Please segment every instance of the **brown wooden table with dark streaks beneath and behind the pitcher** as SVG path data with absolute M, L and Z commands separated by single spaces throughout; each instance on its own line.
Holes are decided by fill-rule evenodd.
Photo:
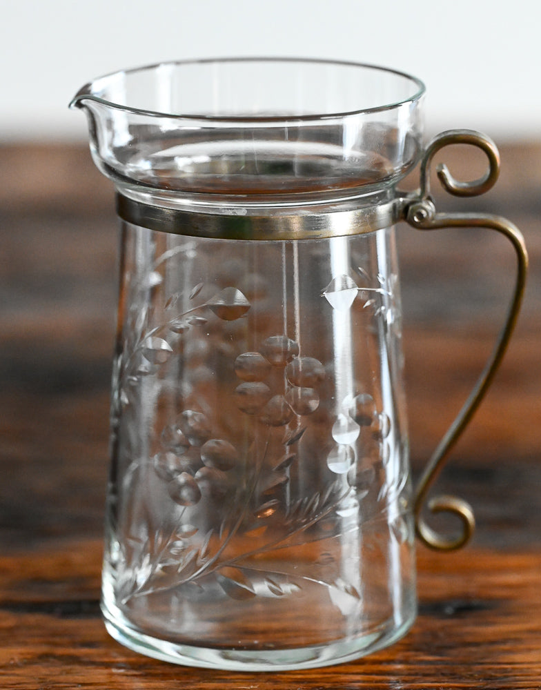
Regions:
M 419 547 L 420 614 L 391 649 L 315 671 L 243 674 L 144 658 L 106 634 L 112 188 L 84 148 L 0 147 L 0 687 L 541 688 L 541 146 L 504 147 L 502 167 L 495 190 L 460 207 L 522 228 L 527 298 L 504 366 L 438 485 L 475 507 L 473 542 L 447 555 Z M 503 239 L 478 230 L 404 226 L 399 243 L 418 473 L 491 350 L 514 262 Z

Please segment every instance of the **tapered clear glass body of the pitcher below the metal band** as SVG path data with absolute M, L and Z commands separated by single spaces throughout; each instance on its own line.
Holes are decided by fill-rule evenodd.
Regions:
M 415 575 L 392 230 L 123 236 L 108 620 L 217 666 L 393 639 Z

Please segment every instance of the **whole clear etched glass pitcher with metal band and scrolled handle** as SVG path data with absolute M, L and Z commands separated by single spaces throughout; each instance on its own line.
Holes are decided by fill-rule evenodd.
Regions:
M 121 218 L 102 608 L 110 633 L 174 662 L 308 668 L 397 640 L 416 612 L 415 532 L 446 451 L 509 339 L 520 233 L 435 213 L 418 79 L 349 63 L 231 59 L 118 72 L 83 87 Z M 397 183 L 418 161 L 422 188 Z M 394 226 L 483 225 L 518 281 L 491 361 L 413 491 Z

